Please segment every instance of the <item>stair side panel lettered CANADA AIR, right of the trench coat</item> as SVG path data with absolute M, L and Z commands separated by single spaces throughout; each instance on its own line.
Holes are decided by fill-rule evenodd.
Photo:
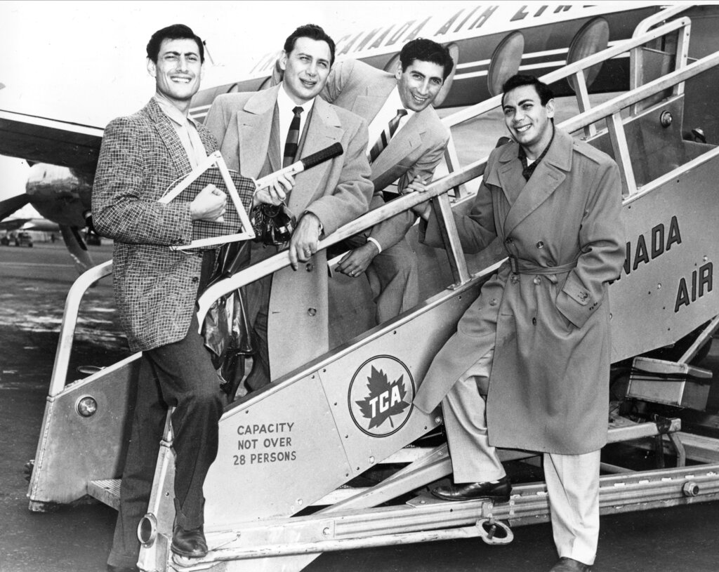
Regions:
M 610 286 L 612 361 L 674 343 L 719 314 L 719 161 L 625 203 L 626 262 Z

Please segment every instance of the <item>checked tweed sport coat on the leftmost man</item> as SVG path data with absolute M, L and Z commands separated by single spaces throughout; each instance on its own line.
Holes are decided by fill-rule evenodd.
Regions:
M 198 125 L 198 134 L 206 152 L 214 152 L 207 129 Z M 105 129 L 93 223 L 99 234 L 114 239 L 115 300 L 132 351 L 179 341 L 195 311 L 202 254 L 168 248 L 192 239 L 189 203 L 157 202 L 191 170 L 185 147 L 154 99 Z M 247 207 L 247 196 L 242 200 Z

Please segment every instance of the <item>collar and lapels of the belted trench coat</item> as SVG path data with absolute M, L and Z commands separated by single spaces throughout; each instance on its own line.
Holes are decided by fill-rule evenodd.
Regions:
M 508 146 L 516 149 L 516 146 Z M 503 153 L 500 161 L 506 157 Z M 509 160 L 500 167 L 499 177 L 503 183 L 517 184 L 517 177 L 523 185 L 521 192 L 510 207 L 507 218 L 504 222 L 504 234 L 510 234 L 516 226 L 527 218 L 533 211 L 538 208 L 541 203 L 551 196 L 555 190 L 562 184 L 567 177 L 567 172 L 572 167 L 572 137 L 564 132 L 557 130 L 554 135 L 554 141 L 549 147 L 544 159 L 537 165 L 536 170 L 529 180 L 524 183 L 522 176 L 521 161 L 518 160 L 516 154 L 513 160 Z M 505 194 L 506 194 L 505 190 Z

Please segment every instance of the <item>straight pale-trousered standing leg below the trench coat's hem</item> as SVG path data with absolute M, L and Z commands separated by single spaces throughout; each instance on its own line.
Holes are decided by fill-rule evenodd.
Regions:
M 544 453 L 551 529 L 560 558 L 592 565 L 599 541 L 600 451 Z

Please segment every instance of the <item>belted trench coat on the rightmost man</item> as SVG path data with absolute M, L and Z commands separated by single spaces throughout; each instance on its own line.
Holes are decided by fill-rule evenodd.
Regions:
M 607 436 L 607 286 L 624 259 L 618 168 L 557 130 L 528 182 L 521 171 L 516 143 L 495 149 L 469 215 L 455 215 L 466 252 L 499 236 L 510 261 L 459 320 L 414 403 L 433 410 L 494 347 L 490 444 L 587 453 Z M 441 246 L 434 217 L 421 231 L 426 244 Z

